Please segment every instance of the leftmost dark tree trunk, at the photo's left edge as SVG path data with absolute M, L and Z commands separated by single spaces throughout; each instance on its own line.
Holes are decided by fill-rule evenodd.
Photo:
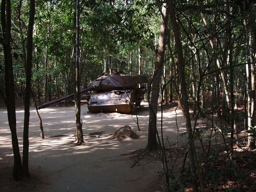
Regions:
M 6 15 L 5 15 L 6 12 Z M 4 49 L 4 67 L 5 67 L 5 94 L 9 127 L 11 130 L 12 150 L 14 154 L 14 167 L 12 175 L 15 180 L 19 180 L 22 172 L 22 164 L 19 152 L 19 143 L 16 133 L 16 112 L 15 112 L 15 94 L 14 94 L 14 76 L 12 68 L 11 54 L 11 1 L 1 1 L 1 26 L 3 30 L 2 45 Z

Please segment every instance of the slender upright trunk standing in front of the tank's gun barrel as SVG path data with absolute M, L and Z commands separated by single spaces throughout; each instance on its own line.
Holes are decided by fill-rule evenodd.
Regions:
M 75 90 L 75 108 L 76 108 L 76 138 L 77 143 L 83 143 L 83 130 L 80 118 L 80 64 L 79 64 L 79 0 L 76 0 L 76 90 Z

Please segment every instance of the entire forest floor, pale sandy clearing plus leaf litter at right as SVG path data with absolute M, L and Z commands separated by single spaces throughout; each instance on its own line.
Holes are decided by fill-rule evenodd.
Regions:
M 163 136 L 169 169 L 172 169 L 170 182 L 173 187 L 176 187 L 174 191 L 188 192 L 191 191 L 188 159 L 183 175 L 180 174 L 185 154 L 185 121 L 181 110 L 175 111 L 174 106 L 167 105 L 163 110 Z M 74 107 L 52 107 L 39 110 L 44 125 L 45 139 L 39 136 L 38 118 L 35 110 L 31 108 L 29 131 L 31 178 L 22 178 L 16 182 L 11 173 L 13 155 L 7 110 L 0 109 L 0 191 L 166 191 L 161 153 L 148 153 L 143 156 L 148 134 L 149 108 L 147 103 L 142 103 L 138 110 L 141 131 L 138 131 L 137 124 L 133 120 L 133 118 L 136 120 L 136 116 L 132 118 L 129 114 L 119 113 L 88 114 L 87 111 L 87 106 L 82 105 L 84 139 L 90 143 L 74 147 L 76 131 Z M 159 111 L 158 125 L 161 125 L 160 114 Z M 16 117 L 22 155 L 24 110 L 17 109 Z M 203 130 L 206 123 L 207 120 L 201 118 L 197 121 L 197 127 Z M 120 142 L 110 138 L 118 128 L 124 125 L 129 125 L 139 135 L 139 139 Z M 158 130 L 160 134 L 159 127 Z M 215 139 L 212 139 L 211 147 L 207 147 L 208 130 L 211 129 L 202 133 L 204 148 L 196 140 L 198 161 L 202 168 L 206 191 L 236 191 L 236 186 L 240 188 L 240 191 L 254 191 L 256 150 L 248 150 L 245 147 L 245 139 L 240 140 L 242 146 L 235 146 L 234 154 L 232 154 L 235 163 L 235 172 L 233 172 L 230 169 L 220 134 L 216 136 L 218 138 L 217 151 Z M 245 133 L 241 133 L 240 137 L 244 135 Z M 229 143 L 228 134 L 226 141 Z M 142 156 L 143 158 L 140 159 Z M 137 161 L 138 159 L 140 160 Z M 237 185 L 235 180 L 237 180 Z

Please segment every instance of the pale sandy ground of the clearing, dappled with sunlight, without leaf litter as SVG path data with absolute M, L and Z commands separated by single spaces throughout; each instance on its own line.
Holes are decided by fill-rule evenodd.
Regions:
M 0 191 L 86 191 L 86 192 L 147 192 L 161 189 L 159 173 L 161 162 L 144 159 L 130 168 L 132 151 L 147 145 L 148 112 L 147 103 L 142 103 L 138 111 L 138 131 L 131 115 L 119 113 L 87 114 L 87 106 L 81 107 L 84 139 L 91 145 L 73 147 L 75 133 L 74 107 L 46 108 L 41 114 L 45 139 L 40 139 L 38 118 L 35 110 L 30 113 L 29 166 L 31 179 L 15 182 L 11 171 L 12 146 L 8 127 L 7 111 L 0 110 Z M 185 131 L 184 118 L 177 111 L 180 133 Z M 22 152 L 24 111 L 17 110 L 17 134 Z M 136 116 L 135 116 L 136 119 Z M 160 126 L 160 112 L 158 113 Z M 163 135 L 170 143 L 176 141 L 176 118 L 174 110 L 163 113 Z M 129 125 L 140 137 L 137 140 L 118 142 L 109 135 L 88 137 L 89 133 L 104 131 L 113 134 L 118 128 Z M 61 137 L 52 137 L 63 135 Z M 179 138 L 180 140 L 180 138 Z M 183 141 L 184 142 L 184 141 Z M 181 144 L 181 140 L 179 142 Z M 22 155 L 22 154 L 21 154 Z

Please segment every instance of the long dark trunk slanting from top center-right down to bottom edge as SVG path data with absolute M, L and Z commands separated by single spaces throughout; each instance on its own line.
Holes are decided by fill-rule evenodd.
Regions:
M 194 160 L 194 142 L 192 138 L 192 127 L 191 127 L 191 120 L 189 114 L 189 107 L 188 107 L 188 94 L 187 94 L 187 86 L 186 86 L 186 79 L 185 79 L 185 64 L 184 64 L 184 57 L 182 52 L 182 45 L 180 39 L 180 30 L 178 28 L 178 24 L 176 21 L 176 11 L 173 7 L 172 0 L 167 0 L 168 9 L 170 18 L 172 20 L 172 28 L 175 40 L 175 46 L 177 48 L 178 54 L 178 70 L 179 70 L 179 80 L 181 85 L 181 105 L 183 106 L 183 115 L 185 117 L 186 129 L 187 129 L 187 147 L 188 147 L 188 157 L 189 157 L 189 166 L 191 171 L 191 179 L 192 179 L 192 186 L 193 191 L 198 191 L 197 179 L 196 179 L 196 166 Z

